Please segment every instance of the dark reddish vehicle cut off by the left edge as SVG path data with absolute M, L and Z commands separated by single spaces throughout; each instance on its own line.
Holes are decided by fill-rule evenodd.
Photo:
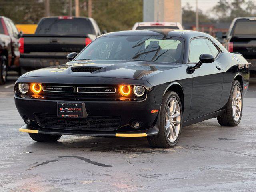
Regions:
M 19 71 L 19 33 L 14 22 L 0 16 L 0 84 L 4 84 L 7 71 Z

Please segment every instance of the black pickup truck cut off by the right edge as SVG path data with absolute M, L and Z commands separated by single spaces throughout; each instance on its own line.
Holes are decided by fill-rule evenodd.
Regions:
M 223 38 L 228 51 L 242 54 L 256 72 L 256 17 L 235 18 Z

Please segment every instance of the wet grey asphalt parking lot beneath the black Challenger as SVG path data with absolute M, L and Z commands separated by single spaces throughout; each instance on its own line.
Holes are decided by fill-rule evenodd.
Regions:
M 183 128 L 178 145 L 154 149 L 146 138 L 62 136 L 37 143 L 18 131 L 10 76 L 0 86 L 0 191 L 256 191 L 256 78 L 242 121 L 216 118 Z

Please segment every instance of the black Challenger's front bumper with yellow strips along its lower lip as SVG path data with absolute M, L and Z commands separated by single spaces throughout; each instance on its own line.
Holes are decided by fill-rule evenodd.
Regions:
M 49 127 L 42 125 L 38 119 L 38 114 L 54 116 L 57 118 L 57 102 L 70 102 L 70 101 L 57 101 L 57 100 L 40 100 L 30 98 L 18 98 L 15 96 L 15 104 L 20 113 L 20 116 L 25 120 L 29 118 L 32 120 L 30 125 L 24 125 L 21 130 L 38 130 L 38 133 L 48 134 L 70 134 L 70 135 L 83 135 L 83 136 L 129 136 L 127 134 L 138 134 L 133 136 L 148 136 L 158 133 L 158 113 L 151 113 L 152 110 L 160 110 L 160 105 L 150 102 L 152 97 L 147 97 L 143 101 L 136 102 L 86 102 L 86 112 L 88 117 L 119 117 L 120 124 L 115 130 L 88 130 L 82 128 L 70 127 Z M 74 123 L 77 119 L 69 119 Z M 134 129 L 131 126 L 132 121 L 139 121 L 141 127 Z M 69 123 L 70 123 L 69 121 Z M 122 133 L 126 134 L 123 135 Z M 116 135 L 117 134 L 117 135 Z M 132 136 L 132 135 L 130 135 Z

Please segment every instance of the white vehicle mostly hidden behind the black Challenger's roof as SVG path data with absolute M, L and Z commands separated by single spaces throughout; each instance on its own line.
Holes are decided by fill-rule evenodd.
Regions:
M 137 22 L 132 30 L 140 29 L 183 29 L 179 22 Z

